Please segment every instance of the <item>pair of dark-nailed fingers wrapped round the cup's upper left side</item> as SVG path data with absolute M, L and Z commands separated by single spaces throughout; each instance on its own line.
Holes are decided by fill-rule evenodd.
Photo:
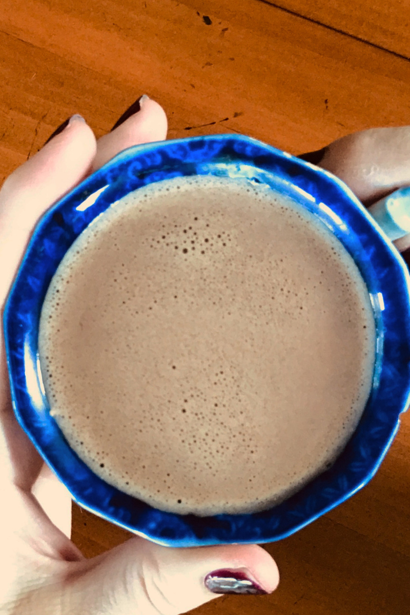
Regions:
M 142 98 L 141 110 L 98 143 L 81 116 L 73 116 L 63 132 L 4 182 L 0 191 L 0 262 L 7 263 L 7 269 L 0 277 L 0 305 L 41 215 L 123 149 L 165 139 L 164 109 L 150 98 Z

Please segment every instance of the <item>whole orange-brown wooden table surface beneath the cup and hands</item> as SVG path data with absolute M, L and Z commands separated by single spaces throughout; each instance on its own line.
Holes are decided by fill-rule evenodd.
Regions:
M 240 132 L 292 154 L 409 124 L 409 0 L 2 0 L 0 181 L 81 113 L 97 137 L 141 94 L 168 137 Z M 204 19 L 204 16 L 208 19 Z M 410 413 L 376 477 L 288 539 L 272 595 L 192 613 L 410 612 Z M 130 538 L 73 505 L 87 557 Z

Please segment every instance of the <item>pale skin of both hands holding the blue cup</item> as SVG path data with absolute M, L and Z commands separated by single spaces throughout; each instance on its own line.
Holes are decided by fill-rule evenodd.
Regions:
M 41 215 L 123 149 L 164 140 L 167 118 L 152 100 L 96 140 L 75 120 L 18 167 L 0 190 L 0 304 Z M 370 204 L 410 185 L 410 127 L 373 129 L 334 141 L 320 166 Z M 410 247 L 410 236 L 398 242 Z M 2 322 L 1 325 L 2 326 Z M 0 339 L 0 613 L 4 615 L 177 615 L 218 597 L 203 584 L 221 568 L 242 569 L 267 592 L 278 568 L 258 545 L 170 549 L 135 536 L 86 559 L 70 541 L 71 496 L 18 425 Z M 246 600 L 246 598 L 243 598 Z

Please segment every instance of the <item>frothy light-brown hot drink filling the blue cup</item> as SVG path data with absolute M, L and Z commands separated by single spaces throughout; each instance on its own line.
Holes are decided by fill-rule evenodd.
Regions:
M 336 459 L 371 390 L 374 316 L 344 247 L 227 178 L 141 188 L 96 218 L 45 297 L 45 392 L 69 445 L 154 507 L 267 509 Z

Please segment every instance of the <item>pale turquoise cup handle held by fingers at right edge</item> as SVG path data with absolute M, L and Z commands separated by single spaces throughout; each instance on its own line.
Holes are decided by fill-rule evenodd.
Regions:
M 410 233 L 410 187 L 399 188 L 368 207 L 388 239 L 395 241 Z

